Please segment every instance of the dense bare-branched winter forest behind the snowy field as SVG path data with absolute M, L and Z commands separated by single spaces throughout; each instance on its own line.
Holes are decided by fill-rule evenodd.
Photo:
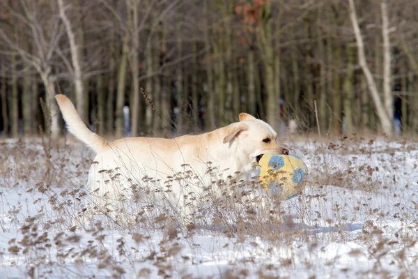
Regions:
M 1 135 L 62 135 L 57 93 L 114 137 L 240 112 L 282 136 L 417 133 L 417 14 L 410 0 L 1 0 Z

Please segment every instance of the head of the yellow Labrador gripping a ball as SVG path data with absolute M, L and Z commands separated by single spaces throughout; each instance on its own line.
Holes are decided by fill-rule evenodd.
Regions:
M 224 144 L 236 144 L 238 158 L 244 170 L 251 169 L 253 163 L 264 154 L 288 154 L 288 149 L 277 142 L 277 133 L 272 126 L 250 114 L 241 113 L 240 122 L 226 127 Z

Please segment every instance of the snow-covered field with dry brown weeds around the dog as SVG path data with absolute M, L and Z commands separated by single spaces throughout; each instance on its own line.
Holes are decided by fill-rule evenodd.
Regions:
M 418 144 L 286 144 L 309 167 L 300 197 L 82 227 L 91 151 L 0 141 L 0 278 L 418 277 Z

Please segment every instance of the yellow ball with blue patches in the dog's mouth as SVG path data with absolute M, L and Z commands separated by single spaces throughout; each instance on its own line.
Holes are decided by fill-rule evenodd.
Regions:
M 299 156 L 265 154 L 258 165 L 258 177 L 268 195 L 285 200 L 303 192 L 308 167 Z

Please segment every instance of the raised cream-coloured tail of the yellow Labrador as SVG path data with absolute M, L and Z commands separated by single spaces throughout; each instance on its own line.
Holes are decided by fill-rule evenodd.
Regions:
M 88 130 L 82 119 L 80 119 L 79 114 L 77 114 L 77 110 L 75 110 L 75 107 L 72 105 L 70 99 L 62 94 L 56 95 L 55 99 L 56 102 L 58 102 L 59 108 L 63 114 L 68 131 L 72 133 L 72 135 L 75 135 L 77 139 L 84 142 L 96 153 L 107 146 L 107 142 L 103 140 L 102 137 L 91 132 L 91 130 Z

